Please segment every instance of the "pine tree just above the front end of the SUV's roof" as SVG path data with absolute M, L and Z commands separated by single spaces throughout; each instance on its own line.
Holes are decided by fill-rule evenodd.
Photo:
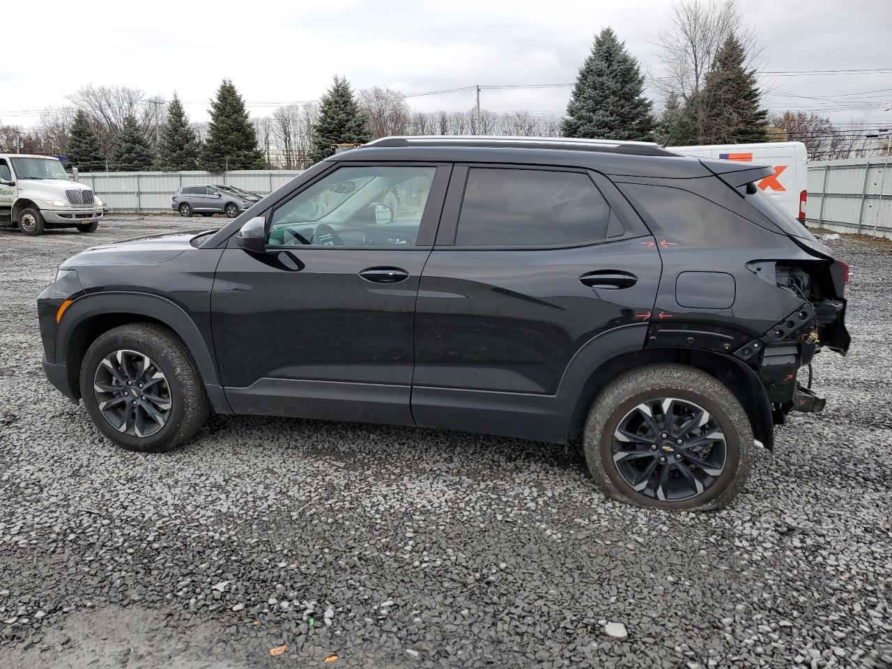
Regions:
M 335 83 L 322 96 L 319 117 L 313 126 L 313 150 L 310 162 L 325 160 L 335 153 L 335 144 L 363 144 L 372 138 L 366 112 L 359 109 L 346 78 Z

